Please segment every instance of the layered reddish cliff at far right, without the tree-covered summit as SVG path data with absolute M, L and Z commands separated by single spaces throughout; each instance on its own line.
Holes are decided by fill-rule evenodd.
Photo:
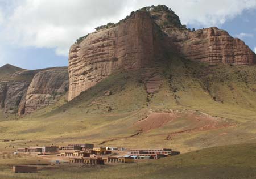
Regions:
M 195 32 L 168 33 L 179 53 L 187 59 L 207 63 L 255 64 L 256 55 L 240 39 L 216 27 Z

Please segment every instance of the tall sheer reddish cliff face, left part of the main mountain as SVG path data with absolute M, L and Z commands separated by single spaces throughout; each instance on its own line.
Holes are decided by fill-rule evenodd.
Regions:
M 155 59 L 158 27 L 146 12 L 135 13 L 117 27 L 90 34 L 69 53 L 69 100 L 113 70 L 139 69 Z

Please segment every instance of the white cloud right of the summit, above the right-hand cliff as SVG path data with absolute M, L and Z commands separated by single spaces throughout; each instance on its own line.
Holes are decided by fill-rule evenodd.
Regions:
M 241 14 L 243 10 L 256 8 L 255 0 L 140 0 L 140 6 L 149 3 L 166 4 L 180 16 L 183 24 L 199 24 L 207 27 L 223 24 Z

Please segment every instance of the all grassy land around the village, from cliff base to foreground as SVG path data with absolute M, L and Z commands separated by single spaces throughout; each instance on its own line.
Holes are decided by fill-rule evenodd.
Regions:
M 154 94 L 146 92 L 145 71 L 123 71 L 72 101 L 63 96 L 57 104 L 27 116 L 0 111 L 0 150 L 8 153 L 18 147 L 89 142 L 96 146 L 172 148 L 182 155 L 100 170 L 60 169 L 20 175 L 10 172 L 10 165 L 19 159 L 5 157 L 0 176 L 255 178 L 256 66 L 209 65 L 171 58 L 156 72 L 162 76 L 162 85 Z M 106 96 L 105 91 L 112 94 Z M 155 114 L 176 117 L 164 125 L 138 125 L 145 119 L 154 123 L 151 116 Z

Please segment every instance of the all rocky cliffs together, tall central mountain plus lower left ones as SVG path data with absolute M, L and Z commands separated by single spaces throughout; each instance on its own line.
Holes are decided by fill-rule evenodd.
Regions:
M 69 69 L 0 68 L 0 104 L 10 113 L 27 114 L 55 103 L 68 91 L 68 100 L 114 72 L 143 69 L 148 94 L 158 91 L 171 56 L 195 62 L 251 65 L 256 54 L 245 43 L 216 27 L 188 29 L 170 8 L 144 7 L 119 23 L 108 23 L 71 46 Z M 69 89 L 69 90 L 68 90 Z

